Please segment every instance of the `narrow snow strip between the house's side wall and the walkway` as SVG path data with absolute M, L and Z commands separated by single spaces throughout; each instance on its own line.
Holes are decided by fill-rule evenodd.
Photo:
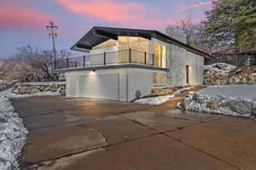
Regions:
M 160 105 L 165 103 L 167 100 L 174 98 L 177 94 L 181 94 L 183 91 L 189 90 L 188 88 L 181 88 L 177 91 L 175 91 L 173 94 L 170 95 L 163 95 L 163 96 L 157 96 L 157 97 L 147 97 L 142 99 L 137 99 L 134 101 L 134 103 L 142 104 L 142 105 Z

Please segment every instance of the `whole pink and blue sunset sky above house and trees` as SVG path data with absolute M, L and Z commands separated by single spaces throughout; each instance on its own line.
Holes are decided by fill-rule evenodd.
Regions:
M 30 44 L 51 48 L 45 26 L 59 26 L 57 49 L 69 49 L 93 26 L 164 31 L 191 16 L 204 20 L 212 0 L 0 0 L 0 58 Z

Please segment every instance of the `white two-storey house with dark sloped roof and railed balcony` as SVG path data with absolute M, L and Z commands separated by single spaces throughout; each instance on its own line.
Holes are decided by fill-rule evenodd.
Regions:
M 110 27 L 93 27 L 72 49 L 89 55 L 55 61 L 55 71 L 66 72 L 67 96 L 120 101 L 202 84 L 204 59 L 212 58 L 160 31 Z

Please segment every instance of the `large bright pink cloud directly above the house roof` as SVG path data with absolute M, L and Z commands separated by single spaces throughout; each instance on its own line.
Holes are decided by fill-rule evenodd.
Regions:
M 118 0 L 56 0 L 69 11 L 88 17 L 91 20 L 111 22 L 120 26 L 140 28 L 162 28 L 170 22 L 159 15 L 150 17 L 149 10 L 143 3 Z M 172 21 L 174 23 L 174 21 Z

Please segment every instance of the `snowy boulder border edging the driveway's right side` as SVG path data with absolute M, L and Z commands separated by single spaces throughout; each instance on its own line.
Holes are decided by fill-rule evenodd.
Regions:
M 256 118 L 255 99 L 224 95 L 189 94 L 177 107 L 187 111 Z

